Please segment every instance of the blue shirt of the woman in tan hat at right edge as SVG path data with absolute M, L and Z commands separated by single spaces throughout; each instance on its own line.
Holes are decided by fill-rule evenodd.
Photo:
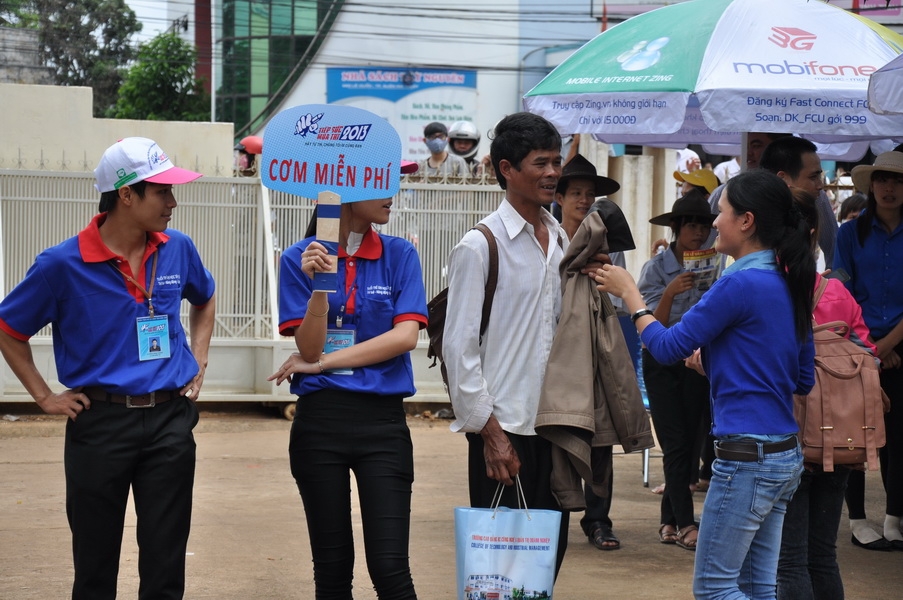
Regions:
M 845 285 L 862 307 L 872 337 L 880 340 L 903 319 L 903 225 L 888 233 L 872 219 L 869 236 L 860 246 L 857 221 L 844 223 L 837 231 L 834 268 L 850 274 Z

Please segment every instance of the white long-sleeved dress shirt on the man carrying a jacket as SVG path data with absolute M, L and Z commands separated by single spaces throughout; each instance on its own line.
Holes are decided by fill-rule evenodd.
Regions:
M 478 432 L 495 415 L 505 431 L 535 435 L 536 408 L 561 312 L 558 266 L 567 246 L 552 215 L 542 211 L 542 219 L 549 230 L 545 252 L 533 226 L 507 200 L 481 221 L 495 234 L 499 251 L 498 286 L 482 344 L 489 246 L 482 233 L 472 230 L 449 256 L 443 353 L 455 410 L 452 431 Z

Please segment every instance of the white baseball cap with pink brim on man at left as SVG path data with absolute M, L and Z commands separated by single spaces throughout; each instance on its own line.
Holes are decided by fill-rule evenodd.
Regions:
M 147 138 L 124 138 L 107 148 L 94 169 L 100 193 L 118 190 L 124 185 L 149 181 L 176 185 L 200 177 L 200 173 L 180 169 L 172 164 L 157 142 Z

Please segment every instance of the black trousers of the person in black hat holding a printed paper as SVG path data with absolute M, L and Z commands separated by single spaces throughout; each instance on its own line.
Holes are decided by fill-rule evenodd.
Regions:
M 655 435 L 664 455 L 661 523 L 686 527 L 695 522 L 690 483 L 699 469 L 699 424 L 711 422 L 709 380 L 683 361 L 663 365 L 645 349 L 643 378 Z

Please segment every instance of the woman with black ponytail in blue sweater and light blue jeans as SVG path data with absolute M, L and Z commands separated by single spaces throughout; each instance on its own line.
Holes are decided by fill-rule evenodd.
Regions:
M 624 299 L 656 360 L 702 349 L 717 442 L 695 597 L 774 598 L 784 514 L 803 469 L 793 394 L 815 380 L 815 259 L 809 227 L 777 176 L 737 175 L 718 207 L 715 248 L 735 262 L 680 322 L 657 321 L 627 271 L 606 265 L 595 279 Z

